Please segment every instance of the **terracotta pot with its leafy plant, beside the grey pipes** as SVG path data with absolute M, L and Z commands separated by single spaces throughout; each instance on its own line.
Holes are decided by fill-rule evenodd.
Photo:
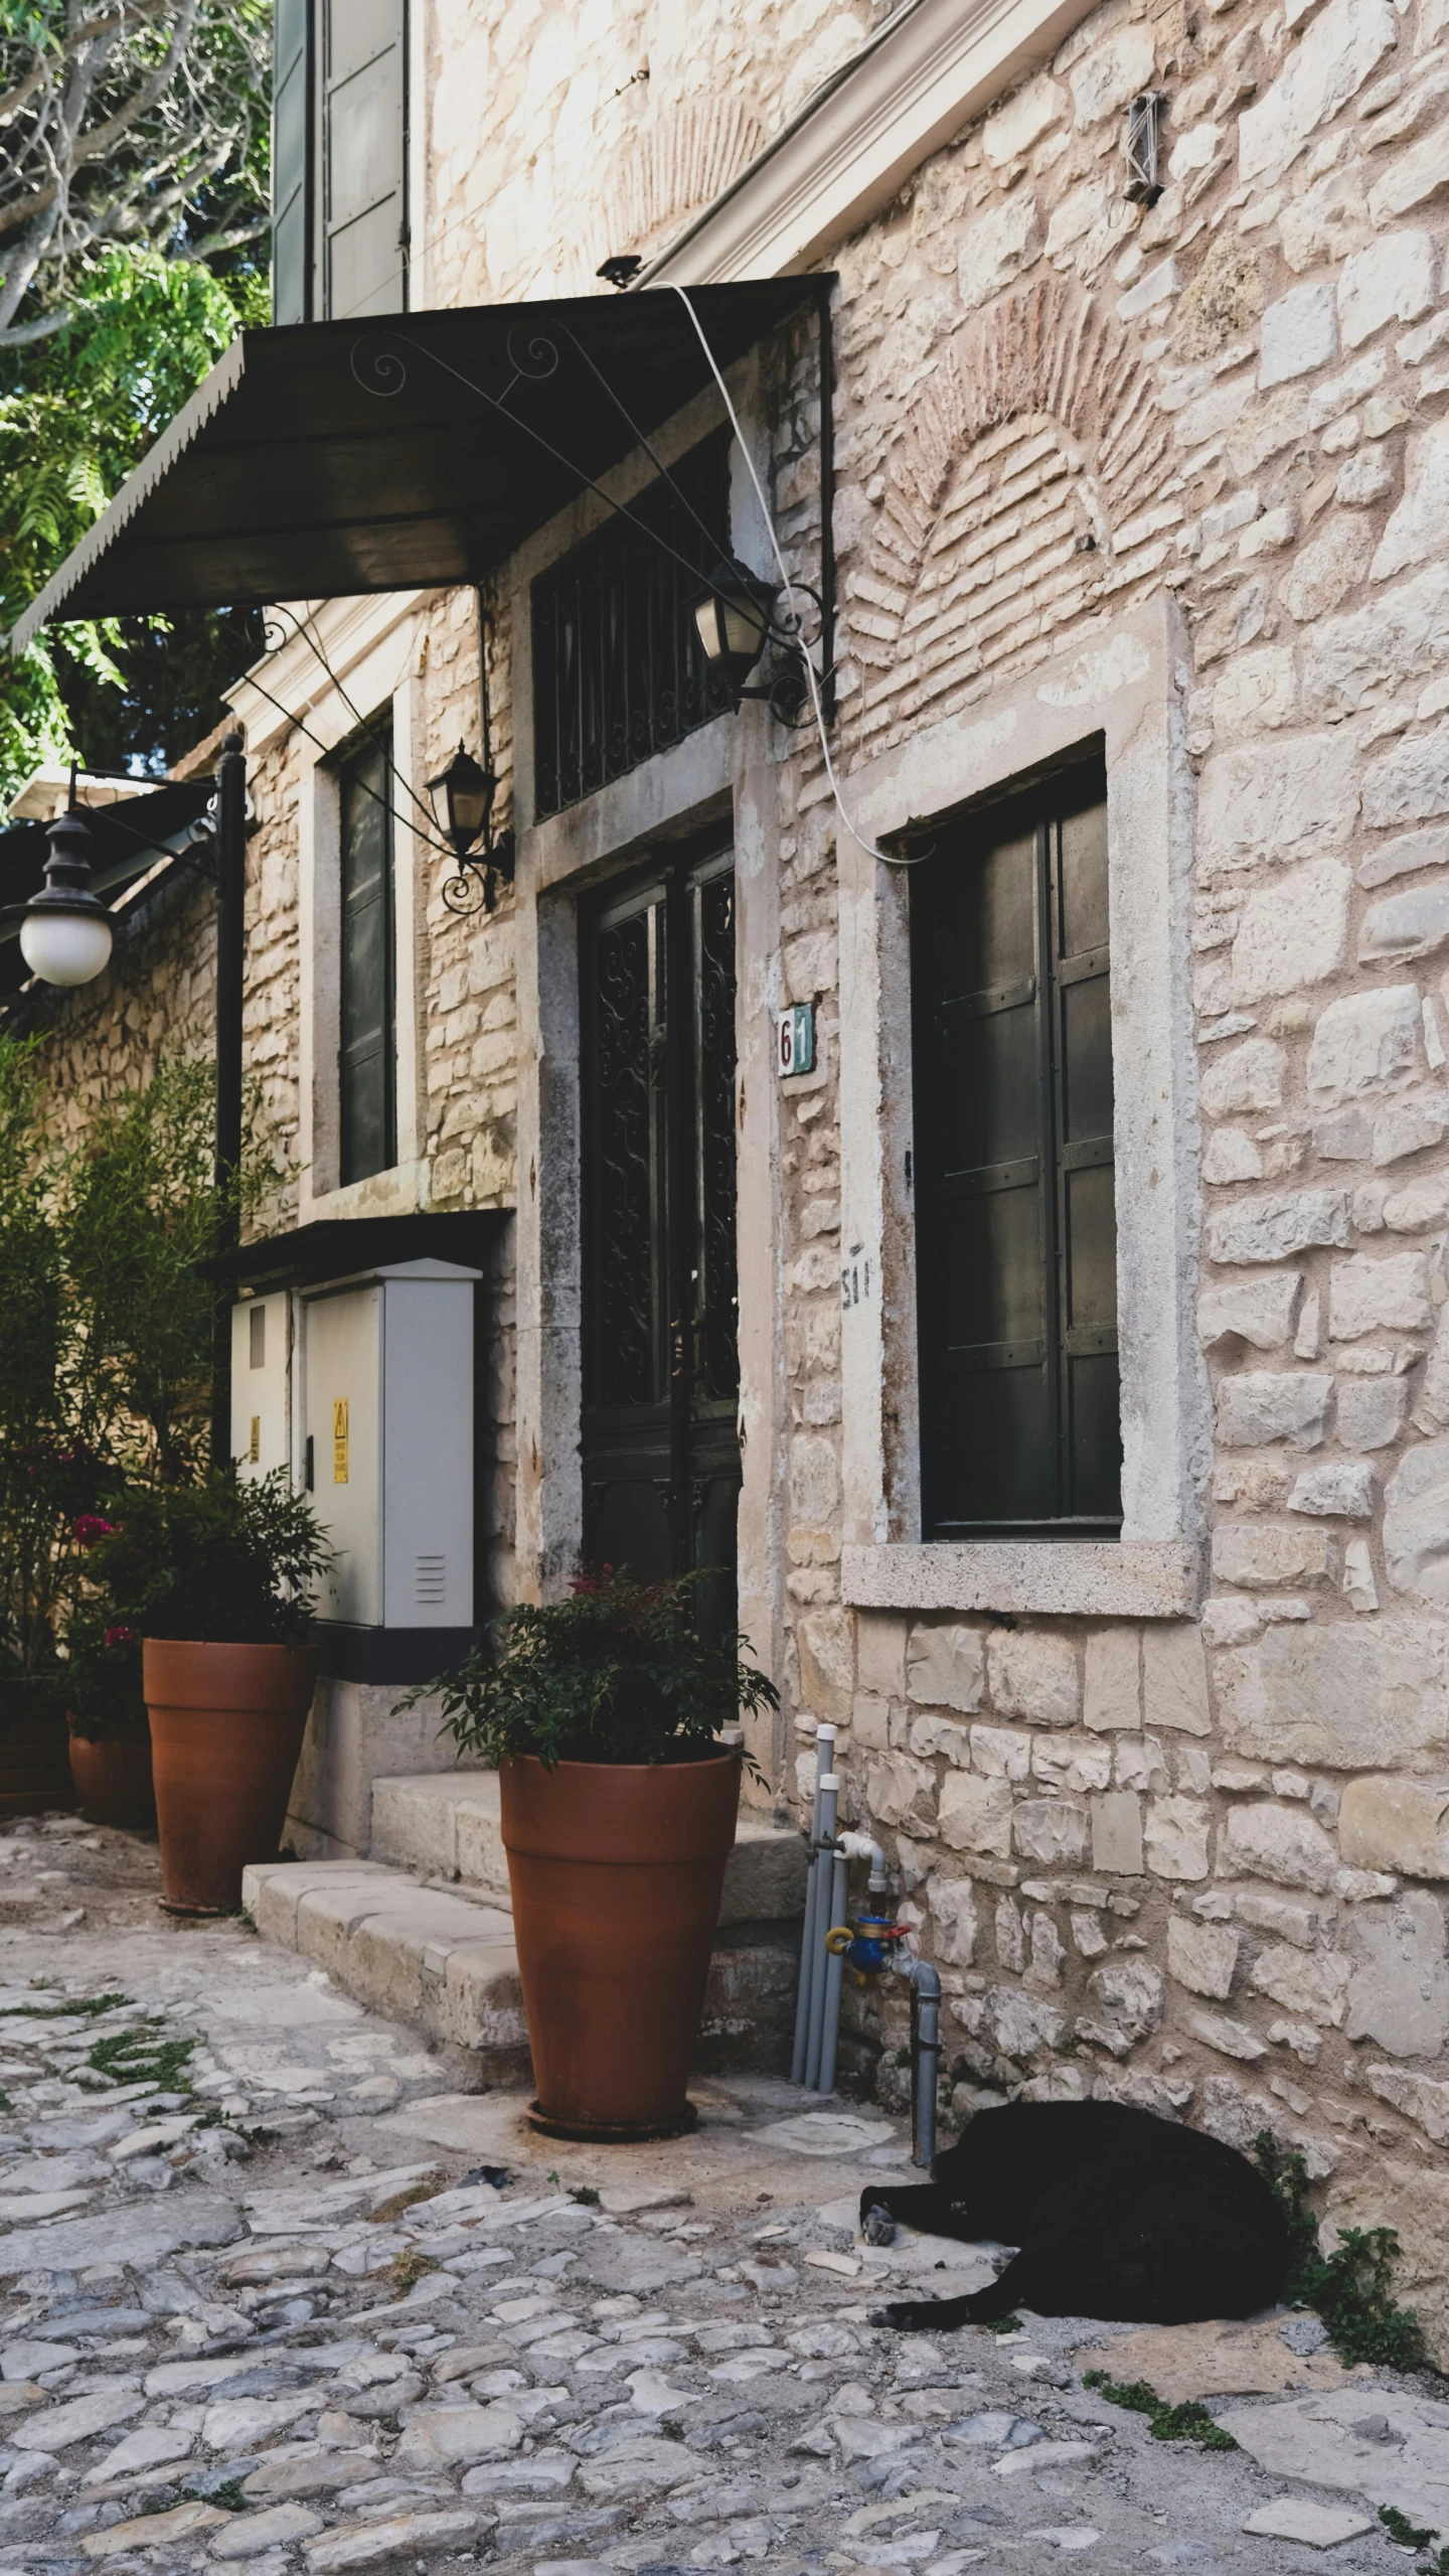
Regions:
M 721 1741 L 780 1705 L 749 1638 L 692 1623 L 695 1577 L 605 1566 L 525 1602 L 502 1654 L 435 1685 L 458 1749 L 497 1765 L 533 2074 L 553 2138 L 669 2138 L 685 2099 L 739 1777 Z M 414 1692 L 417 1698 L 417 1692 Z

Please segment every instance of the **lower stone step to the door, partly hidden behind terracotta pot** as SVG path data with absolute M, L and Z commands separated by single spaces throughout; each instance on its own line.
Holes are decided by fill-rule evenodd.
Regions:
M 314 1960 L 373 2012 L 466 2048 L 489 2084 L 530 2076 L 504 1906 L 420 1886 L 381 1860 L 252 1862 L 242 1904 L 263 1940 Z M 788 1927 L 721 1917 L 700 2020 L 703 2069 L 788 2063 L 798 1960 Z

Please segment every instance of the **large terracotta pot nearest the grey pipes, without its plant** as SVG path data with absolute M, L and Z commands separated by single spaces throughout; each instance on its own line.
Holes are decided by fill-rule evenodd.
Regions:
M 705 1999 L 739 1757 L 499 1770 L 517 1968 L 553 2138 L 672 2138 Z

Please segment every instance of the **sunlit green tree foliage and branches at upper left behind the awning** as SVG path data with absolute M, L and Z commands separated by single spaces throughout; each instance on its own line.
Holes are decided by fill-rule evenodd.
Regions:
M 237 327 L 268 319 L 270 0 L 0 0 L 0 634 Z M 165 770 L 247 611 L 49 629 L 0 662 L 0 801 L 46 757 Z

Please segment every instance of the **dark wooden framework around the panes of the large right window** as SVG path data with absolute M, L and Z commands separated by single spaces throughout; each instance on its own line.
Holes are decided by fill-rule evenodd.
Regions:
M 1114 1458 L 1107 1468 L 1099 1461 L 1102 1481 L 1117 1492 L 1114 1510 L 1073 1510 L 1081 1461 L 1076 1443 L 1076 1365 L 1102 1358 L 1117 1360 L 1117 1309 L 1112 1324 L 1076 1324 L 1071 1306 L 1076 1296 L 1078 1231 L 1071 1216 L 1071 1180 L 1086 1170 L 1112 1170 L 1112 1128 L 1107 1136 L 1071 1139 L 1068 1105 L 1068 994 L 1089 981 L 1107 981 L 1107 1012 L 1112 1007 L 1109 933 L 1104 943 L 1084 951 L 1063 948 L 1066 927 L 1066 855 L 1063 824 L 1073 814 L 1102 811 L 1107 829 L 1107 762 L 1099 742 L 1078 747 L 1078 757 L 1045 770 L 1035 781 L 1009 781 L 1006 788 L 973 799 L 950 817 L 937 817 L 924 827 L 924 853 L 909 878 L 911 902 L 911 1059 L 914 1059 L 914 1195 L 916 1195 L 916 1370 L 921 1383 L 921 1538 L 927 1543 L 957 1543 L 978 1538 L 1117 1538 L 1122 1528 L 1120 1504 L 1120 1430 L 1122 1394 L 1120 1373 L 1112 1370 L 1114 1399 Z M 986 866 L 993 848 L 1011 837 L 1029 842 L 1029 976 L 978 992 L 947 994 L 934 971 L 947 951 L 950 881 L 947 871 Z M 932 848 L 934 845 L 934 848 Z M 1102 876 L 1107 894 L 1107 873 Z M 986 976 L 986 966 L 981 969 Z M 1029 984 L 1029 989 L 1024 989 Z M 970 1007 L 975 1005 L 975 1010 Z M 1001 1023 L 1017 1010 L 1029 1012 L 1032 1072 L 1029 1103 L 1019 1118 L 1019 1144 L 1032 1136 L 1035 1151 L 1006 1164 L 981 1162 L 970 1172 L 947 1172 L 945 1121 L 932 1118 L 947 1092 L 947 1066 L 942 1064 L 945 1028 L 942 1012 L 968 1010 L 981 1023 Z M 1109 1030 L 1109 1018 L 1107 1018 Z M 960 1043 L 960 1041 L 957 1041 Z M 1006 1041 L 1009 1043 L 1009 1041 Z M 1107 1095 L 1112 1097 L 1112 1064 L 1107 1061 Z M 1001 1139 L 999 1139 L 1001 1141 Z M 1107 1149 L 1102 1149 L 1107 1146 Z M 1035 1170 L 1027 1172 L 1027 1164 Z M 952 1188 L 955 1182 L 955 1188 Z M 970 1188 L 975 1182 L 978 1188 Z M 965 1185 L 965 1188 L 963 1188 Z M 970 1479 L 955 1466 L 957 1443 L 950 1437 L 952 1406 L 952 1347 L 965 1355 L 965 1345 L 952 1345 L 952 1316 L 947 1311 L 945 1262 L 952 1229 L 952 1198 L 978 1206 L 1004 1200 L 1019 1188 L 1035 1193 L 1035 1273 L 1040 1291 L 1040 1334 L 1032 1334 L 1037 1358 L 1027 1360 L 1022 1345 L 973 1345 L 975 1368 L 986 1373 L 1042 1370 L 1042 1448 L 1053 1484 L 1055 1510 L 1024 1515 L 1001 1510 L 950 1510 L 950 1499 L 968 1492 Z M 963 1216 L 955 1218 L 957 1224 Z M 986 1226 L 981 1231 L 988 1231 Z M 1117 1224 L 1112 1221 L 1112 1262 L 1117 1249 Z M 1001 1255 L 1009 1265 L 1009 1255 Z M 1009 1285 L 1009 1283 L 1006 1283 Z M 991 1352 L 991 1358 L 986 1355 Z M 968 1360 L 970 1370 L 970 1360 Z M 983 1391 L 986 1394 L 986 1391 Z M 1029 1409 L 1029 1406 L 1027 1406 Z M 955 1484 L 952 1484 L 955 1468 Z M 1001 1497 L 1006 1499 L 1006 1497 Z M 1045 1497 L 1042 1497 L 1045 1499 Z

